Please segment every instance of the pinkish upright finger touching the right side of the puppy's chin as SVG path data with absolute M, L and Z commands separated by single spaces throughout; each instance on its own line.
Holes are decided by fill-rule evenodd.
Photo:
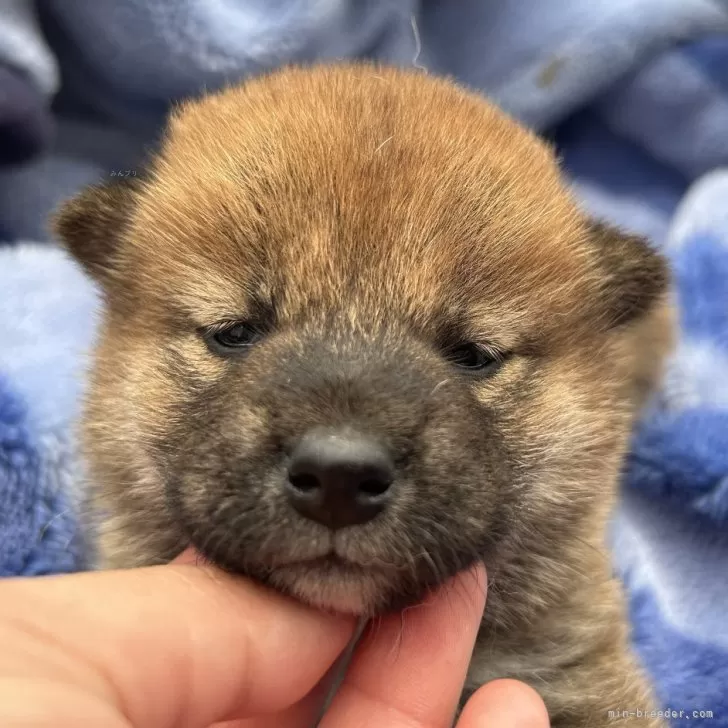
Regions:
M 485 569 L 365 633 L 321 728 L 449 726 L 485 607 Z

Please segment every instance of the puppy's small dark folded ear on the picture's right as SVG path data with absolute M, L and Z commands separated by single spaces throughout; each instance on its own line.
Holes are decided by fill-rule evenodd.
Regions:
M 670 285 L 667 260 L 645 238 L 602 222 L 589 225 L 600 267 L 600 308 L 610 328 L 642 318 Z

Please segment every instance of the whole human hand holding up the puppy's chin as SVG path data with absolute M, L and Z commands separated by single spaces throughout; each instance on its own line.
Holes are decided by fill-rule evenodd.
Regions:
M 483 611 L 482 569 L 375 622 L 322 728 L 448 726 Z M 188 564 L 0 583 L 3 728 L 304 728 L 354 630 L 245 579 Z M 458 728 L 546 728 L 501 680 Z

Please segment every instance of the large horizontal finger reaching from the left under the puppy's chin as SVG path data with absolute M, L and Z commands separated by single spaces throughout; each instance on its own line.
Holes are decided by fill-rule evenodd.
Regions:
M 136 728 L 280 711 L 316 685 L 352 631 L 349 620 L 203 567 L 6 581 L 0 724 L 21 693 L 39 726 L 83 724 L 80 696 Z

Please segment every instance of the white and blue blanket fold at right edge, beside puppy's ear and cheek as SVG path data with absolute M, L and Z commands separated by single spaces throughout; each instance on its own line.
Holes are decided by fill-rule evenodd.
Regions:
M 728 168 L 695 185 L 671 226 L 666 252 L 681 336 L 663 391 L 634 439 L 628 473 L 632 487 L 704 514 L 728 534 L 726 203 Z

